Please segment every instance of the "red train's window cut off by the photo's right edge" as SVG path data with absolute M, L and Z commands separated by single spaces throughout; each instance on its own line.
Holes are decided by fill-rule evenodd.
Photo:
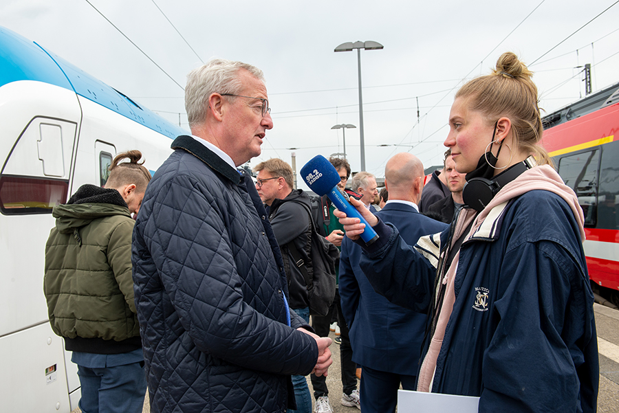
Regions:
M 619 230 L 619 142 L 602 146 L 600 188 L 598 189 L 598 228 Z

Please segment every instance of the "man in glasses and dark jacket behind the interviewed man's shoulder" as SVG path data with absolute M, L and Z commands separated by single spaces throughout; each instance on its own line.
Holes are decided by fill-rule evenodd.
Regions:
M 258 172 L 256 189 L 265 203 L 268 218 L 281 249 L 284 269 L 288 279 L 290 308 L 310 322 L 310 298 L 301 269 L 295 264 L 291 248 L 294 246 L 305 263 L 310 262 L 310 197 L 300 189 L 293 189 L 292 167 L 277 158 L 261 162 L 254 168 Z M 307 208 L 305 206 L 307 205 Z M 292 376 L 297 410 L 288 412 L 310 413 L 312 398 L 304 376 Z

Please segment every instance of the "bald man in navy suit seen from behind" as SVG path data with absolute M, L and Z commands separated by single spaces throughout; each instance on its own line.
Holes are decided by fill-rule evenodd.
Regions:
M 384 170 L 389 201 L 376 213 L 400 230 L 406 243 L 442 232 L 447 225 L 419 213 L 424 182 L 422 163 L 398 153 Z M 359 267 L 361 247 L 344 238 L 340 258 L 340 297 L 350 329 L 353 361 L 362 368 L 360 404 L 365 413 L 395 412 L 400 385 L 415 390 L 417 361 L 426 330 L 424 313 L 392 304 L 376 293 Z

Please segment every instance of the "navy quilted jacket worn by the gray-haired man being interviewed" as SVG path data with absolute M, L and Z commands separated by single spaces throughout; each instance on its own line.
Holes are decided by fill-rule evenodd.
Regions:
M 192 137 L 172 148 L 133 232 L 151 412 L 285 412 L 289 376 L 312 371 L 318 346 L 293 311 L 286 325 L 263 205 L 250 177 Z

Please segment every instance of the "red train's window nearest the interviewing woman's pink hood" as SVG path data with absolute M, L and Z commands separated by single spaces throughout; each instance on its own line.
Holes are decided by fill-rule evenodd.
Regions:
M 565 184 L 576 192 L 580 208 L 585 214 L 585 227 L 596 225 L 598 166 L 600 150 L 567 155 L 558 163 L 558 172 Z

